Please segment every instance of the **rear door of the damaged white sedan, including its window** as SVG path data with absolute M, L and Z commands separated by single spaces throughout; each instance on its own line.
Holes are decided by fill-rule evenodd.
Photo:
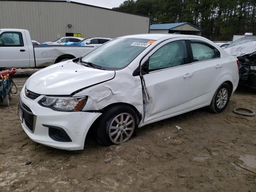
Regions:
M 192 107 L 204 105 L 212 98 L 217 81 L 222 76 L 220 52 L 199 38 L 190 38 L 193 56 Z

